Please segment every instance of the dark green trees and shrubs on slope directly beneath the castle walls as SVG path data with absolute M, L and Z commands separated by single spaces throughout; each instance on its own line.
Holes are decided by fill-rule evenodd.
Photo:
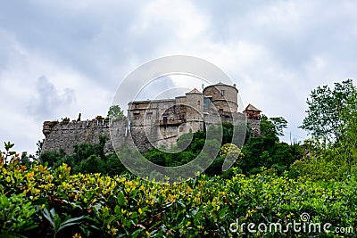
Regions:
M 278 174 L 288 170 L 295 160 L 300 159 L 303 151 L 299 144 L 289 145 L 279 142 L 278 135 L 282 135 L 286 123 L 283 118 L 268 119 L 262 115 L 261 135 L 257 137 L 248 135 L 247 143 L 239 150 L 236 158 L 230 158 L 232 161 L 236 160 L 233 166 L 245 175 L 256 174 L 262 167 L 271 168 L 271 171 L 276 171 Z M 209 130 L 211 130 L 209 133 L 204 130 L 181 135 L 177 145 L 172 146 L 169 152 L 152 149 L 145 152 L 143 156 L 160 166 L 180 166 L 194 160 L 199 154 L 203 157 L 208 156 L 206 152 L 203 152 L 204 144 L 212 151 L 219 152 L 220 147 L 230 144 L 232 141 L 233 125 L 230 123 L 223 123 L 222 125 L 221 142 L 215 138 L 216 136 L 209 137 L 219 135 L 220 128 L 210 127 Z M 62 163 L 66 163 L 72 168 L 72 174 L 96 172 L 114 176 L 128 172 L 117 156 L 118 154 L 120 156 L 120 152 L 118 154 L 114 152 L 108 155 L 104 154 L 104 144 L 107 139 L 107 137 L 102 136 L 98 144 L 76 144 L 74 153 L 71 155 L 66 155 L 63 151 L 42 152 L 39 161 L 51 168 L 57 168 Z M 182 151 L 177 152 L 178 150 Z M 218 153 L 217 158 L 213 160 L 212 165 L 205 170 L 205 173 L 208 176 L 222 175 L 222 173 L 228 176 L 231 170 L 222 171 L 226 157 L 227 155 Z M 209 160 L 208 157 L 207 160 Z

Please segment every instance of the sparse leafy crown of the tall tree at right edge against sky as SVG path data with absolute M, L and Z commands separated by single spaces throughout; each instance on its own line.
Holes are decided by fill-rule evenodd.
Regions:
M 353 80 L 335 83 L 333 89 L 318 86 L 307 99 L 309 109 L 301 128 L 312 136 L 326 137 L 329 143 L 341 141 L 351 115 L 357 111 L 357 89 Z

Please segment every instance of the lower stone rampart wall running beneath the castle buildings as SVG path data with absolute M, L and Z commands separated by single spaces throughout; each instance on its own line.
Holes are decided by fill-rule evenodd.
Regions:
M 214 112 L 211 114 L 214 114 Z M 236 112 L 230 115 L 220 113 L 219 115 L 218 112 L 215 112 L 215 114 L 215 116 L 207 115 L 204 117 L 206 127 L 219 124 L 218 117 L 220 117 L 221 121 L 233 124 L 246 122 L 245 114 L 243 113 Z M 46 140 L 42 149 L 44 152 L 62 149 L 67 154 L 71 154 L 74 152 L 74 144 L 97 144 L 101 135 L 107 135 L 109 140 L 104 145 L 104 152 L 114 152 L 114 147 L 119 148 L 121 146 L 136 146 L 139 151 L 146 152 L 154 146 L 169 147 L 170 144 L 177 142 L 180 135 L 188 133 L 190 129 L 196 132 L 203 130 L 204 127 L 201 120 L 166 127 L 155 123 L 147 126 L 130 127 L 128 124 L 127 119 L 113 122 L 104 119 L 70 122 L 45 121 L 43 133 L 46 136 Z M 253 128 L 255 135 L 258 135 L 259 120 L 248 119 L 248 124 Z

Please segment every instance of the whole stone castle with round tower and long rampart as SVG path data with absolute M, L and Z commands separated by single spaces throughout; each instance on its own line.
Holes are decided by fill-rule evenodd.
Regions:
M 174 144 L 180 135 L 196 132 L 222 121 L 237 125 L 248 122 L 259 134 L 260 110 L 249 104 L 238 112 L 236 85 L 218 83 L 206 86 L 203 92 L 193 89 L 173 99 L 134 101 L 128 103 L 128 118 L 120 120 L 97 117 L 85 121 L 45 121 L 43 151 L 61 148 L 73 152 L 74 144 L 95 144 L 101 135 L 111 135 L 105 152 L 121 145 L 136 146 L 145 152 L 151 148 Z M 244 138 L 243 138 L 244 140 Z

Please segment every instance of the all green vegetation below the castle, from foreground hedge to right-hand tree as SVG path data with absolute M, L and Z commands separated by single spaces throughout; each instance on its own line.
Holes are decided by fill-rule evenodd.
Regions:
M 41 152 L 38 160 L 5 143 L 0 237 L 354 237 L 356 95 L 352 80 L 313 90 L 302 126 L 312 137 L 303 144 L 280 142 L 286 120 L 262 116 L 261 134 L 247 136 L 241 150 L 229 144 L 233 126 L 223 124 L 222 142 L 203 131 L 182 135 L 177 154 L 146 152 L 148 160 L 177 166 L 204 143 L 220 148 L 204 174 L 171 185 L 131 175 L 115 153 L 104 154 L 105 137 L 76 145 L 72 155 Z M 324 111 L 330 114 L 320 121 Z M 236 162 L 222 172 L 226 159 Z

